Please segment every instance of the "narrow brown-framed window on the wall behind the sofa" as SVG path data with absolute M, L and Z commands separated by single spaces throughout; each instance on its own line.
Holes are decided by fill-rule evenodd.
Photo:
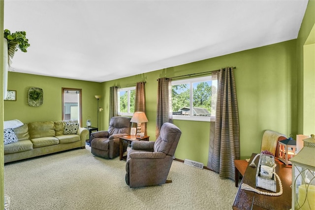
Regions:
M 62 88 L 63 120 L 78 120 L 82 126 L 82 90 Z

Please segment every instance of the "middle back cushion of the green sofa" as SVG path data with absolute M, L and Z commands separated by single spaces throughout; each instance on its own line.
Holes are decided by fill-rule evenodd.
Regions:
M 53 121 L 30 122 L 28 125 L 31 139 L 55 136 L 55 124 Z

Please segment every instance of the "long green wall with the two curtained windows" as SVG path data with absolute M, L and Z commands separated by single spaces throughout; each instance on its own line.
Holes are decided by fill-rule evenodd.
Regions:
M 296 134 L 296 107 L 292 107 L 292 95 L 296 95 L 296 40 L 105 82 L 102 84 L 105 110 L 109 107 L 109 87 L 146 81 L 148 135 L 154 141 L 157 79 L 211 71 L 225 66 L 237 67 L 235 78 L 242 157 L 260 151 L 262 134 L 266 129 L 285 135 Z M 103 124 L 107 127 L 109 117 L 106 112 L 103 117 Z M 210 123 L 184 120 L 174 120 L 174 123 L 183 132 L 175 156 L 206 165 Z

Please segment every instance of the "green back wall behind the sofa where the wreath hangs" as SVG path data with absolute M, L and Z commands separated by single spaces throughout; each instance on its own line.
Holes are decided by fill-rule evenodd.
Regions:
M 27 95 L 30 87 L 43 89 L 43 105 L 29 106 Z M 97 100 L 94 95 L 102 93 L 101 83 L 16 72 L 8 73 L 8 90 L 16 90 L 17 99 L 4 101 L 4 120 L 18 119 L 23 123 L 62 120 L 62 88 L 82 89 L 82 124 L 86 126 L 87 117 L 91 117 L 96 127 Z

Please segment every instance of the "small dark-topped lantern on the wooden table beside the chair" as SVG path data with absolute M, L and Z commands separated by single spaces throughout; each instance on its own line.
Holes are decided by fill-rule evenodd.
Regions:
M 292 165 L 289 161 L 296 154 L 296 141 L 290 136 L 290 138 L 279 141 L 279 160 L 284 162 L 285 165 Z

